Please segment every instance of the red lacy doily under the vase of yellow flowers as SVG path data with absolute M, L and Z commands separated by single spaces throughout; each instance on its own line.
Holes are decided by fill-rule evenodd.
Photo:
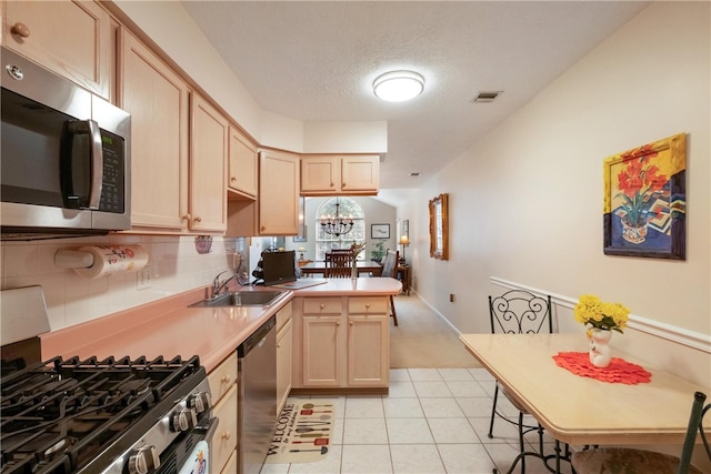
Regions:
M 587 352 L 559 352 L 553 355 L 553 360 L 555 364 L 568 369 L 575 375 L 591 377 L 602 382 L 637 385 L 638 383 L 648 383 L 652 380 L 652 374 L 647 372 L 644 367 L 627 362 L 620 357 L 612 357 L 610 365 L 604 369 L 592 365 Z

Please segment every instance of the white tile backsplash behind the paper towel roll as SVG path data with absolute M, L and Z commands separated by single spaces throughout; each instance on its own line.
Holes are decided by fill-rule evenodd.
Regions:
M 84 245 L 140 244 L 148 252 L 150 283 L 139 272 L 89 280 L 54 265 L 60 249 Z M 41 285 L 52 331 L 118 311 L 207 286 L 222 271 L 231 271 L 233 254 L 249 254 L 248 239 L 172 235 L 122 235 L 0 242 L 2 290 Z M 139 284 L 140 283 L 140 284 Z

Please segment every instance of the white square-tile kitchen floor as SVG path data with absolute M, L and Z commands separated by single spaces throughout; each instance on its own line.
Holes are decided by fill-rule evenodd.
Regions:
M 497 420 L 494 437 L 488 437 L 493 391 L 494 381 L 483 369 L 392 369 L 388 395 L 328 397 L 337 418 L 323 461 L 266 464 L 261 473 L 488 474 L 494 467 L 505 473 L 519 453 L 518 430 Z M 503 396 L 499 409 L 518 414 Z M 527 450 L 538 451 L 535 433 L 527 442 Z M 545 453 L 553 447 L 547 437 Z M 520 465 L 514 472 L 521 472 Z M 549 471 L 542 461 L 527 457 L 525 473 Z

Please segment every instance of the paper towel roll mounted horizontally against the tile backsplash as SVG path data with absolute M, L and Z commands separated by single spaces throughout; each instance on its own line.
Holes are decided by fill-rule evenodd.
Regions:
M 92 280 L 114 273 L 136 272 L 148 263 L 148 253 L 138 244 L 91 245 L 82 246 L 79 251 L 91 253 L 93 263 L 87 269 L 74 269 L 74 271 Z

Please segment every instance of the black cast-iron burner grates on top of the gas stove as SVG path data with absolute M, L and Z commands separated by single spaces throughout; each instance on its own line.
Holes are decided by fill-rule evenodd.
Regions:
M 131 445 L 203 379 L 197 356 L 54 357 L 3 375 L 0 472 L 76 472 Z

